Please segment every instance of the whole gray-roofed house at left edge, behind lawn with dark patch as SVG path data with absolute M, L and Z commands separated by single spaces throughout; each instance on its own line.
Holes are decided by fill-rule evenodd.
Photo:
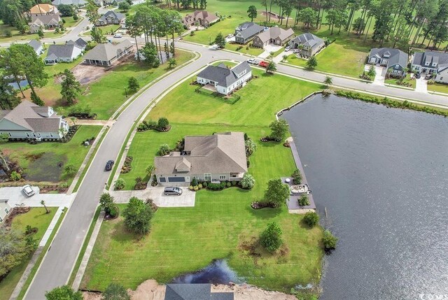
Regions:
M 0 134 L 13 139 L 62 138 L 69 124 L 49 106 L 22 101 L 13 110 L 0 110 Z

